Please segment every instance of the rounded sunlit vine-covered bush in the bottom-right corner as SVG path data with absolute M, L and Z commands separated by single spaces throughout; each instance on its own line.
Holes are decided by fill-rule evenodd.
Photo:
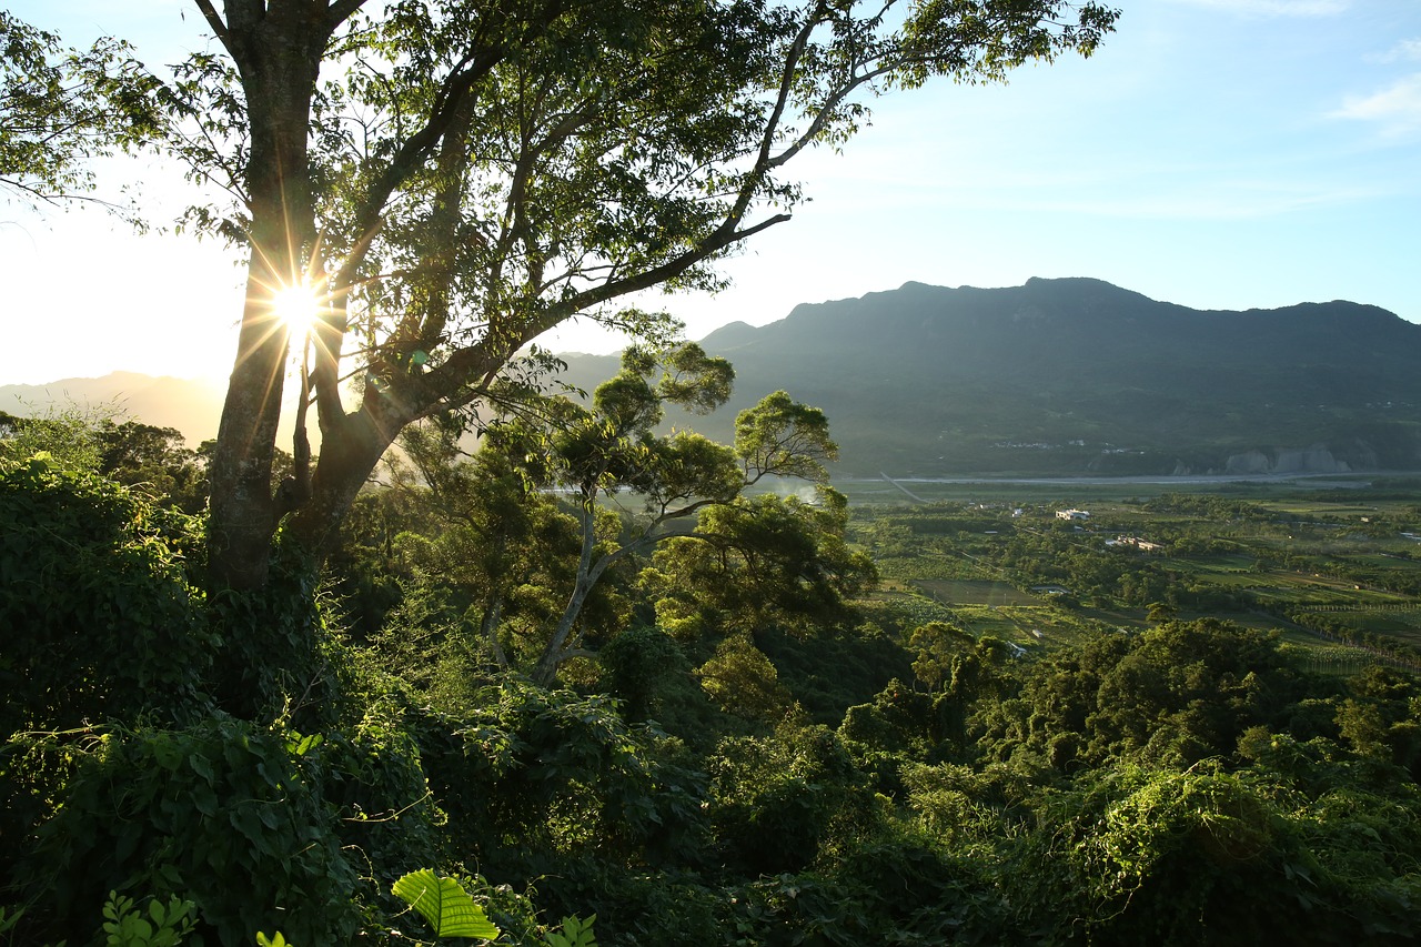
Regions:
M 1061 943 L 1401 943 L 1415 916 L 1414 866 L 1377 872 L 1370 892 L 1353 887 L 1333 867 L 1337 846 L 1351 843 L 1329 809 L 1266 774 L 1101 774 L 1044 810 L 1012 874 L 1017 903 L 1037 917 L 1050 904 Z

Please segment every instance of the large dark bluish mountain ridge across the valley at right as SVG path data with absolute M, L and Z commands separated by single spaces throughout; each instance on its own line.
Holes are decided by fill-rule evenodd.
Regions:
M 796 307 L 702 346 L 733 401 L 821 407 L 838 472 L 1228 474 L 1421 469 L 1421 326 L 1374 306 L 1199 311 L 1091 279 L 908 283 Z M 612 368 L 570 360 L 578 384 Z

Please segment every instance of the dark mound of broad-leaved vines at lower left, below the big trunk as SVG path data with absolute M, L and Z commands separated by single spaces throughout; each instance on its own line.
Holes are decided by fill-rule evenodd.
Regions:
M 348 940 L 357 872 L 330 781 L 315 741 L 230 718 L 117 732 L 80 761 L 40 828 L 27 887 L 71 923 L 107 890 L 178 894 L 225 943 L 300 903 L 281 921 L 293 941 Z

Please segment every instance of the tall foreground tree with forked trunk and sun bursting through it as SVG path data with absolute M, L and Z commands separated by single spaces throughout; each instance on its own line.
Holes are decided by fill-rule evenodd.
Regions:
M 789 219 L 786 165 L 864 121 L 855 94 L 1090 54 L 1117 16 L 1094 0 L 195 1 L 226 58 L 183 70 L 176 149 L 236 199 L 189 222 L 249 267 L 212 466 L 212 574 L 237 589 L 266 582 L 288 513 L 296 542 L 327 549 L 401 429 L 509 395 L 547 330 L 584 316 L 655 334 L 664 319 L 631 294 L 718 286 L 718 257 Z M 306 283 L 325 303 L 301 391 L 321 451 L 303 407 L 296 479 L 273 493 L 293 348 L 273 299 Z

